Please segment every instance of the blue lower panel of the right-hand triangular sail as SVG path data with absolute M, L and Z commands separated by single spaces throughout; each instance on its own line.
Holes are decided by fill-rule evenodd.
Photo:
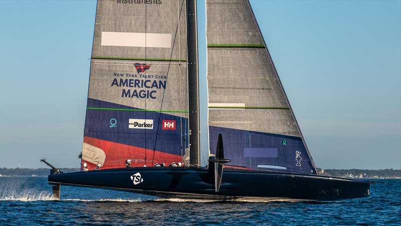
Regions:
M 313 173 L 312 163 L 299 137 L 210 126 L 209 138 L 213 154 L 216 152 L 219 133 L 223 135 L 224 155 L 232 161 L 226 165 Z

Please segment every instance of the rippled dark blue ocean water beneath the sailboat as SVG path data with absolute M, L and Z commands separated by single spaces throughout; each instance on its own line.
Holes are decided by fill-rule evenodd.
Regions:
M 61 187 L 47 177 L 0 177 L 0 225 L 400 225 L 401 180 L 377 180 L 367 198 L 340 201 L 182 200 Z

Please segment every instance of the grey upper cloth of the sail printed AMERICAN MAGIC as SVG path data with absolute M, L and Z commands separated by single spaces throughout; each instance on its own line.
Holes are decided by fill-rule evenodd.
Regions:
M 185 1 L 118 2 L 124 1 L 98 2 L 88 97 L 141 109 L 184 110 L 187 104 Z M 138 73 L 134 63 L 150 68 Z M 122 87 L 111 87 L 112 79 L 116 78 L 114 72 L 123 75 L 118 81 L 138 78 L 127 77 L 126 73 L 150 76 L 152 82 L 167 80 L 164 98 L 163 90 L 157 88 L 150 88 L 157 91 L 155 99 L 122 98 Z

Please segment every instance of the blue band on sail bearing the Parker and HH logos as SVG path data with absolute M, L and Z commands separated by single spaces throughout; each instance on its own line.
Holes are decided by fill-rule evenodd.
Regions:
M 88 98 L 85 137 L 182 156 L 186 128 L 186 118 Z

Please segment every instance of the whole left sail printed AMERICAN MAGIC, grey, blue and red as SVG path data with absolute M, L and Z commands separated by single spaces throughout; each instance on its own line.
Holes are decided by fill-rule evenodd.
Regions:
M 97 3 L 82 162 L 185 162 L 185 0 Z

